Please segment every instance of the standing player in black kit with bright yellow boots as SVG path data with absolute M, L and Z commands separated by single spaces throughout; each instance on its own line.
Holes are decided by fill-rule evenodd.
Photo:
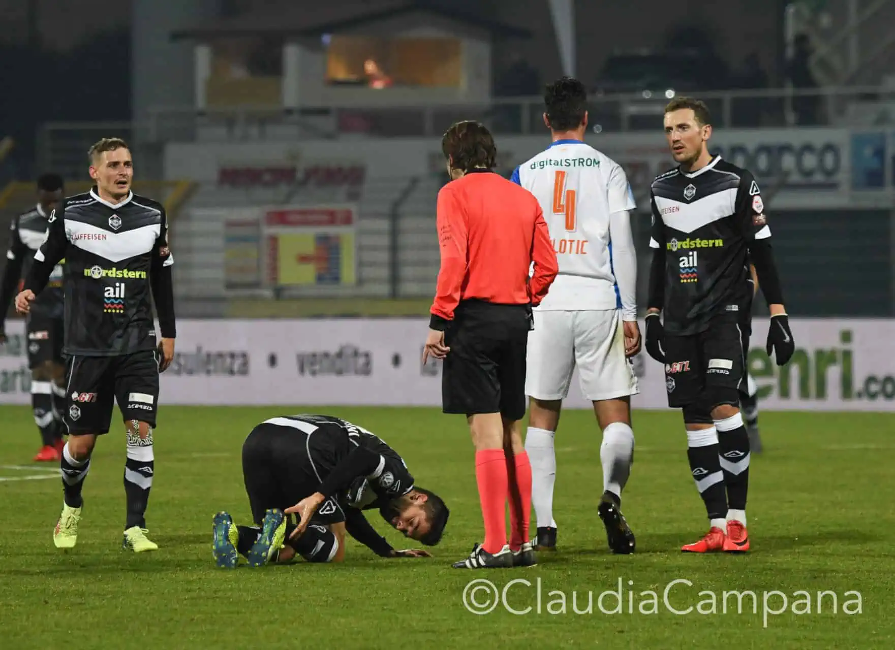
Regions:
M 60 461 L 64 505 L 53 534 L 72 548 L 81 519 L 81 487 L 97 436 L 106 434 L 114 402 L 124 416 L 127 460 L 124 548 L 154 551 L 145 513 L 155 473 L 152 429 L 158 374 L 174 358 L 175 316 L 165 208 L 131 190 L 133 162 L 122 139 L 101 139 L 89 152 L 92 190 L 64 198 L 47 219 L 16 308 L 29 313 L 55 265 L 65 259 L 64 354 L 69 358 L 64 422 L 69 440 Z M 162 340 L 156 342 L 154 298 Z M 159 353 L 161 359 L 159 359 Z

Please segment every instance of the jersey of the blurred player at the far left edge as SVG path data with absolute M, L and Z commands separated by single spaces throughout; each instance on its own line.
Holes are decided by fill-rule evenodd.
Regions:
M 47 238 L 47 215 L 38 204 L 23 215 L 16 216 L 10 224 L 9 249 L 6 250 L 6 268 L 0 282 L 0 314 L 5 314 L 13 300 L 19 280 L 29 274 L 34 253 Z M 62 277 L 65 260 L 53 267 L 47 288 L 31 303 L 34 314 L 45 317 L 63 316 Z M 0 317 L 2 321 L 2 317 Z

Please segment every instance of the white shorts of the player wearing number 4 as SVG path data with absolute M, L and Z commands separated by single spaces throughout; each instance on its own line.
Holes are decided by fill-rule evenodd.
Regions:
M 564 400 L 575 366 L 584 398 L 612 400 L 639 393 L 634 365 L 625 357 L 619 309 L 534 312 L 528 333 L 525 394 Z

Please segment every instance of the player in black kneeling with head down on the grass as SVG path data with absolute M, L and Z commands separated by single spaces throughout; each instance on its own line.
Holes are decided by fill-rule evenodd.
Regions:
M 413 485 L 388 444 L 328 416 L 271 418 L 256 426 L 243 443 L 243 479 L 256 525 L 236 526 L 224 511 L 215 515 L 218 567 L 235 567 L 240 554 L 253 567 L 295 555 L 342 561 L 345 532 L 381 557 L 428 557 L 426 551 L 396 551 L 362 511 L 378 509 L 392 527 L 430 546 L 439 543 L 450 514 L 437 494 Z

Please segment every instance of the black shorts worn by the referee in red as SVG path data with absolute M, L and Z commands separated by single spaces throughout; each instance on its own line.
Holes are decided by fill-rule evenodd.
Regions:
M 464 300 L 445 332 L 450 351 L 441 376 L 445 413 L 525 415 L 526 305 Z

